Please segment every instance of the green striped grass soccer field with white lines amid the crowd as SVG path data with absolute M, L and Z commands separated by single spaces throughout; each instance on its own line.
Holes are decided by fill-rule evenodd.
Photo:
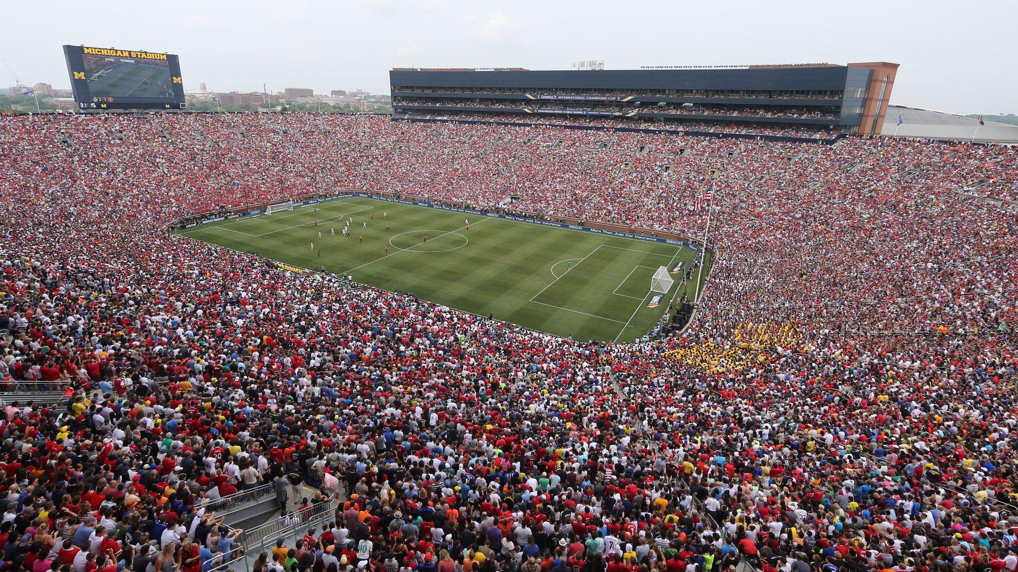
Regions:
M 619 342 L 654 328 L 677 288 L 681 297 L 682 274 L 674 274 L 662 302 L 647 307 L 655 271 L 679 262 L 688 268 L 696 255 L 688 246 L 372 198 L 337 198 L 318 209 L 219 221 L 180 234 L 558 336 Z

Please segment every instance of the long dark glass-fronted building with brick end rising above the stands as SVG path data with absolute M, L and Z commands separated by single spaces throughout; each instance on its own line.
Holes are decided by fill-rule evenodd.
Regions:
M 589 66 L 587 66 L 589 67 Z M 640 69 L 406 69 L 389 72 L 403 114 L 610 118 L 674 129 L 767 128 L 878 135 L 898 64 L 860 62 Z M 357 90 L 357 95 L 367 95 Z

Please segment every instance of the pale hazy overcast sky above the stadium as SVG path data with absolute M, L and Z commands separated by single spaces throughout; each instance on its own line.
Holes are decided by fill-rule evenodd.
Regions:
M 890 61 L 891 103 L 1018 113 L 1018 2 L 190 0 L 2 8 L 0 58 L 69 88 L 61 46 L 175 53 L 184 89 L 388 94 L 392 67 Z M 120 10 L 120 11 L 118 11 Z M 7 69 L 0 85 L 13 85 Z

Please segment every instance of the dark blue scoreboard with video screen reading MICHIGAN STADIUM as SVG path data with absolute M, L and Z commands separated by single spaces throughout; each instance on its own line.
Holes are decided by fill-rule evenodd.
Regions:
M 174 54 L 64 46 L 64 57 L 81 110 L 186 107 Z

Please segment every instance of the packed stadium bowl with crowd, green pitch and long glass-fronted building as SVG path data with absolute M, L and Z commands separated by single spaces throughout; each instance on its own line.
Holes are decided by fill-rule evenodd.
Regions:
M 896 70 L 0 117 L 5 569 L 1014 570 L 1018 158 Z

